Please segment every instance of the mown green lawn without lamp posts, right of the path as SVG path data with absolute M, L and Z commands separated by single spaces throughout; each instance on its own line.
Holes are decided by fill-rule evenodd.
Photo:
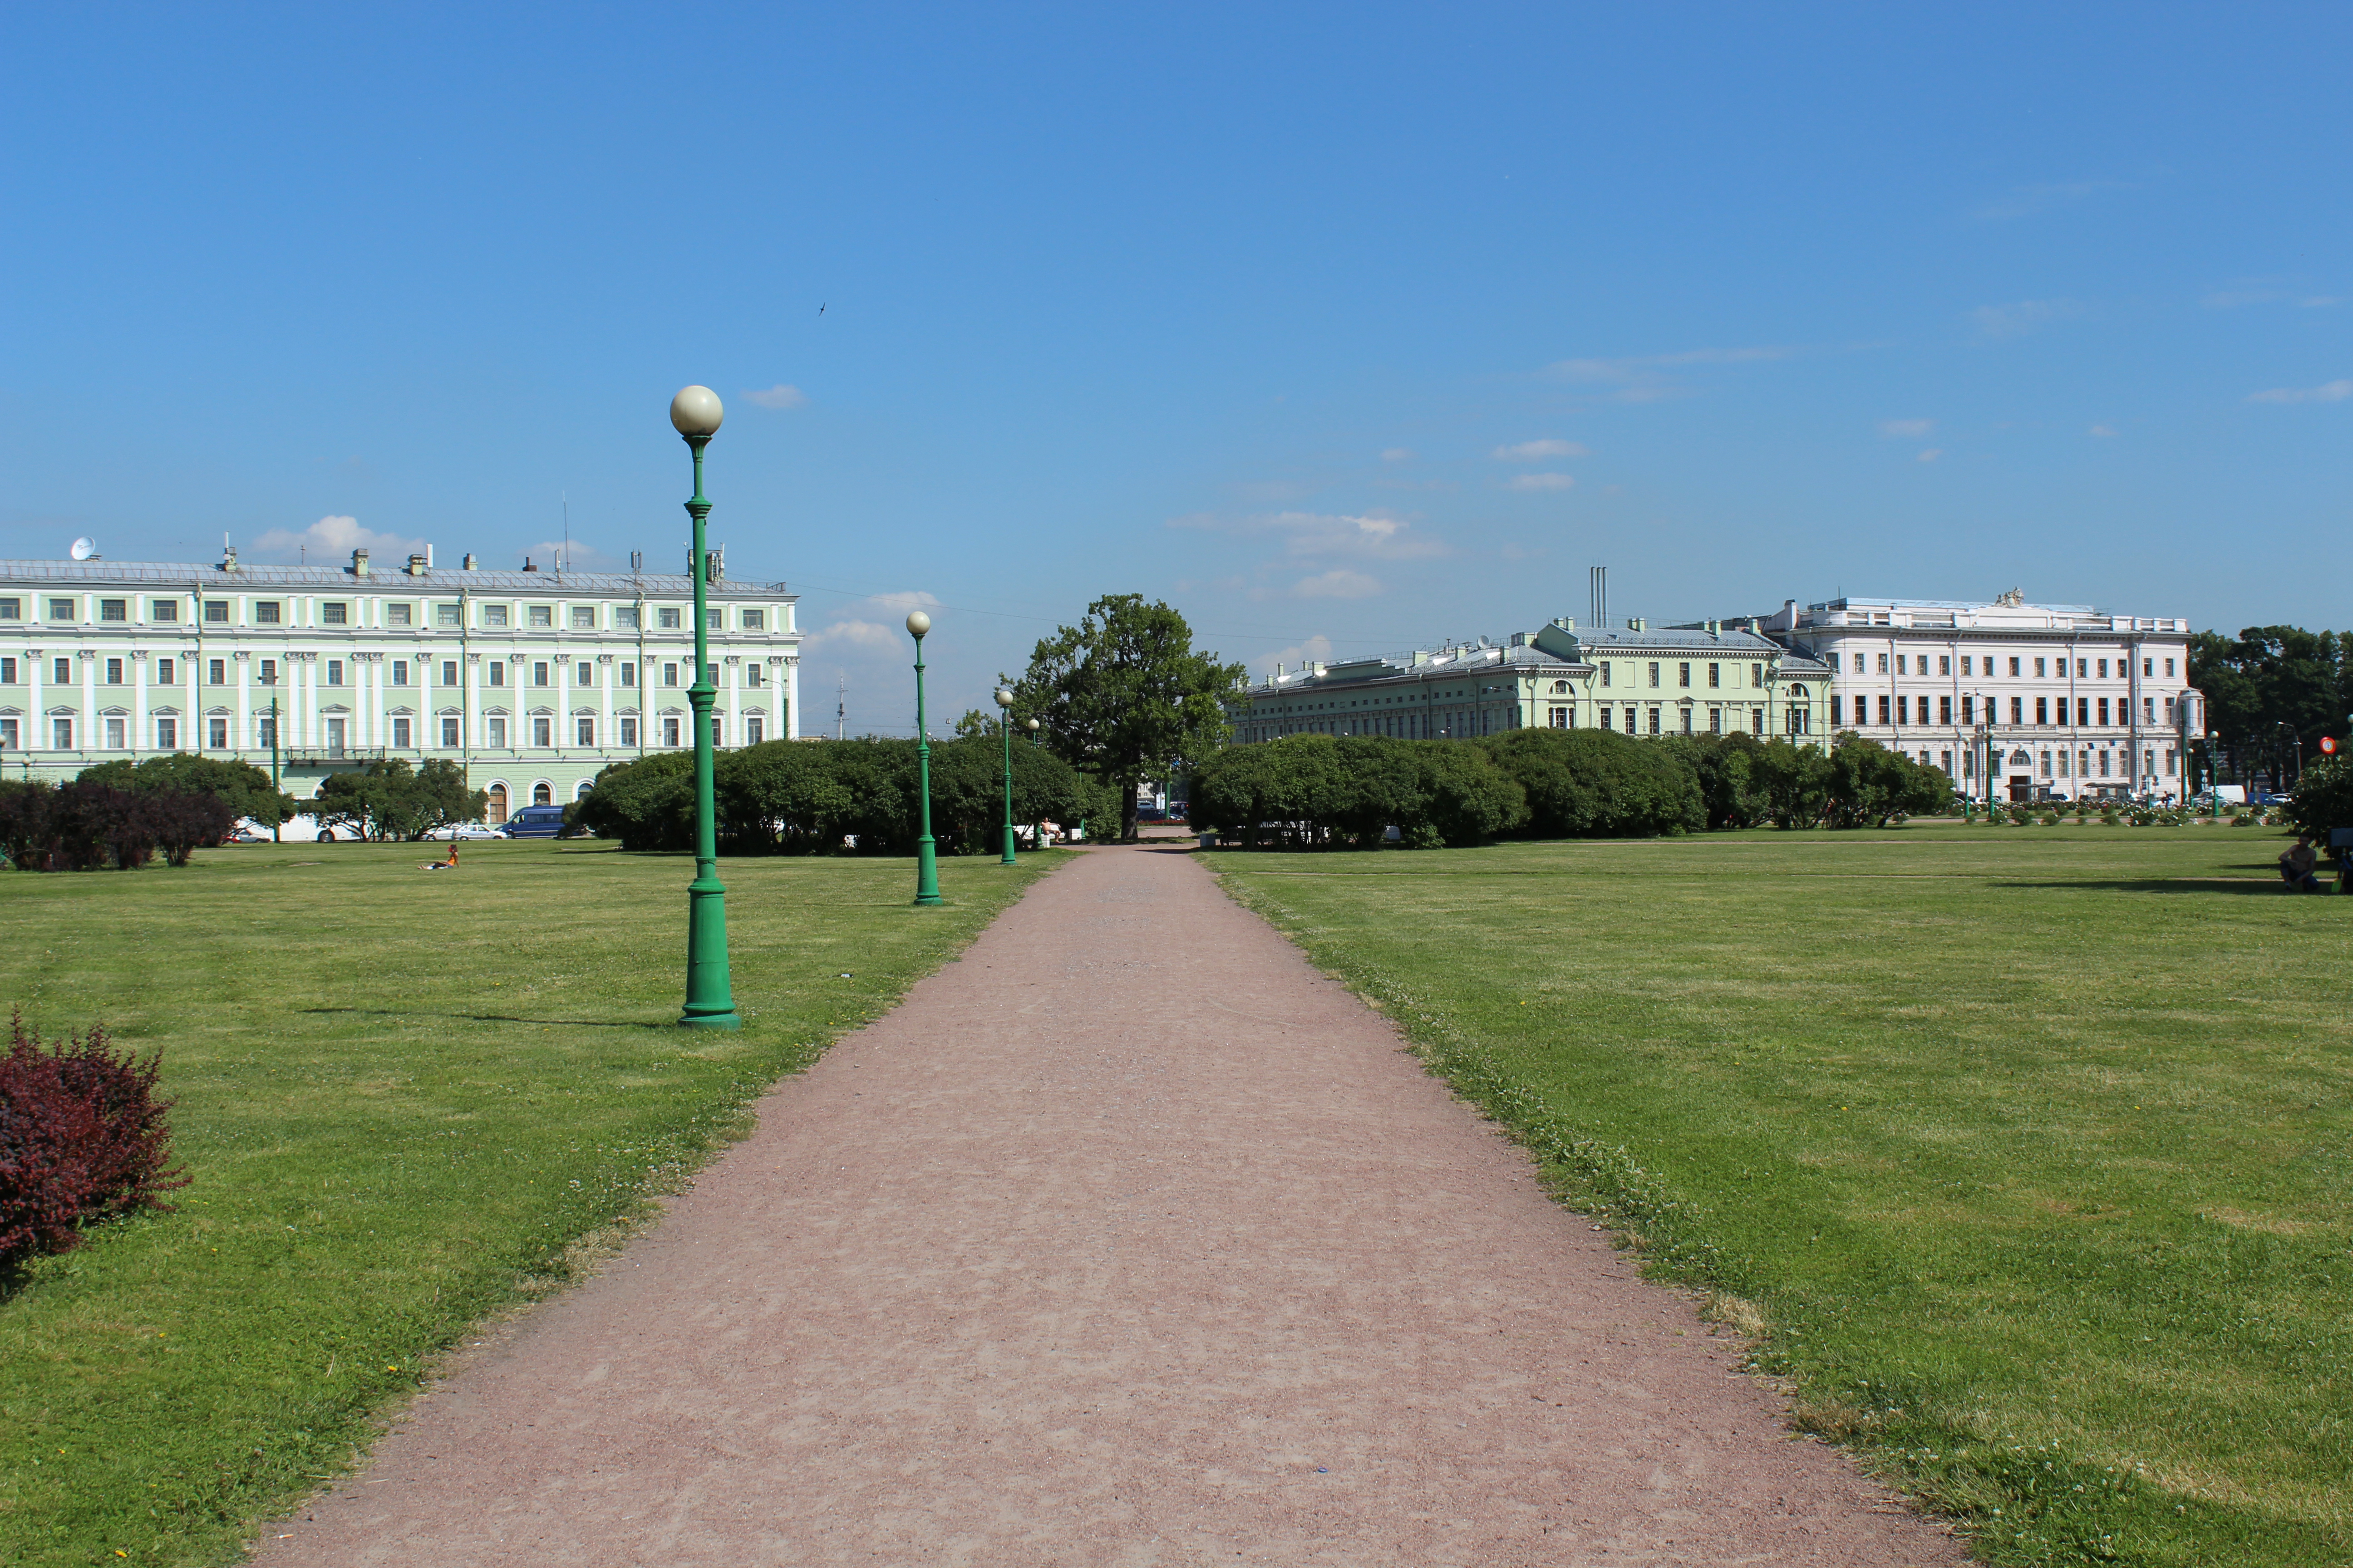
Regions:
M 2000 1563 L 2353 1561 L 2353 900 L 2275 832 L 1219 853 Z

